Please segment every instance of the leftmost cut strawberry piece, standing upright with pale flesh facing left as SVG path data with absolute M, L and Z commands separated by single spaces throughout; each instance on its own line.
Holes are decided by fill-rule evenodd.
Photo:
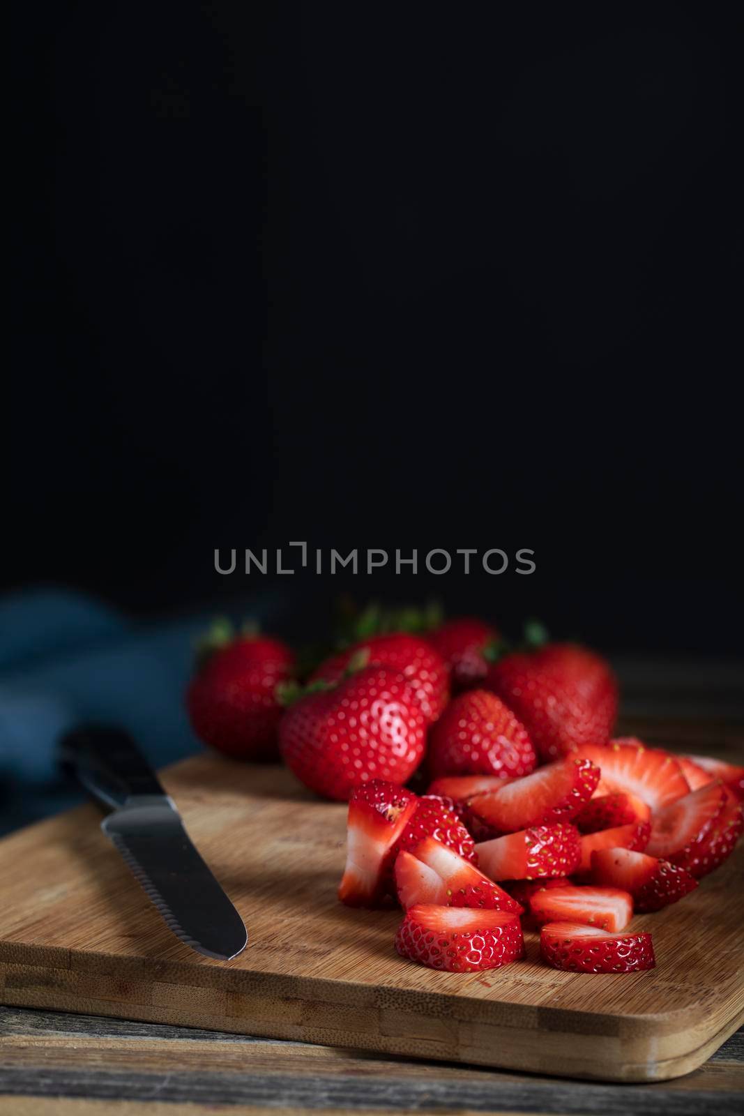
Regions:
M 379 903 L 393 846 L 416 811 L 417 799 L 405 787 L 373 779 L 349 800 L 346 868 L 338 889 L 341 903 Z

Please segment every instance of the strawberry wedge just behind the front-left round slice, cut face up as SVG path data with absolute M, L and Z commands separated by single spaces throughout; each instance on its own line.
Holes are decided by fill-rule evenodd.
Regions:
M 398 854 L 395 883 L 404 907 L 415 906 L 416 903 L 436 903 L 441 906 L 483 907 L 522 914 L 516 899 L 457 856 L 454 849 L 433 837 L 427 837 L 409 853 Z

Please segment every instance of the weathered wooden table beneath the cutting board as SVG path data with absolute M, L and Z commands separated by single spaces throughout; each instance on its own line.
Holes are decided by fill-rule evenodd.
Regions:
M 646 673 L 641 672 L 641 677 Z M 729 672 L 735 679 L 737 673 Z M 677 750 L 741 758 L 742 695 L 725 695 L 726 718 L 695 694 L 694 713 L 670 719 L 674 685 L 654 716 L 631 689 L 620 731 Z M 626 690 L 627 693 L 627 690 Z M 721 692 L 716 693 L 721 701 Z M 740 715 L 741 711 L 741 715 Z M 741 762 L 741 759 L 740 759 Z M 648 1085 L 467 1068 L 303 1042 L 258 1039 L 100 1017 L 0 1009 L 2 1116 L 197 1116 L 201 1113 L 510 1113 L 726 1116 L 744 1109 L 744 1030 L 698 1070 Z

